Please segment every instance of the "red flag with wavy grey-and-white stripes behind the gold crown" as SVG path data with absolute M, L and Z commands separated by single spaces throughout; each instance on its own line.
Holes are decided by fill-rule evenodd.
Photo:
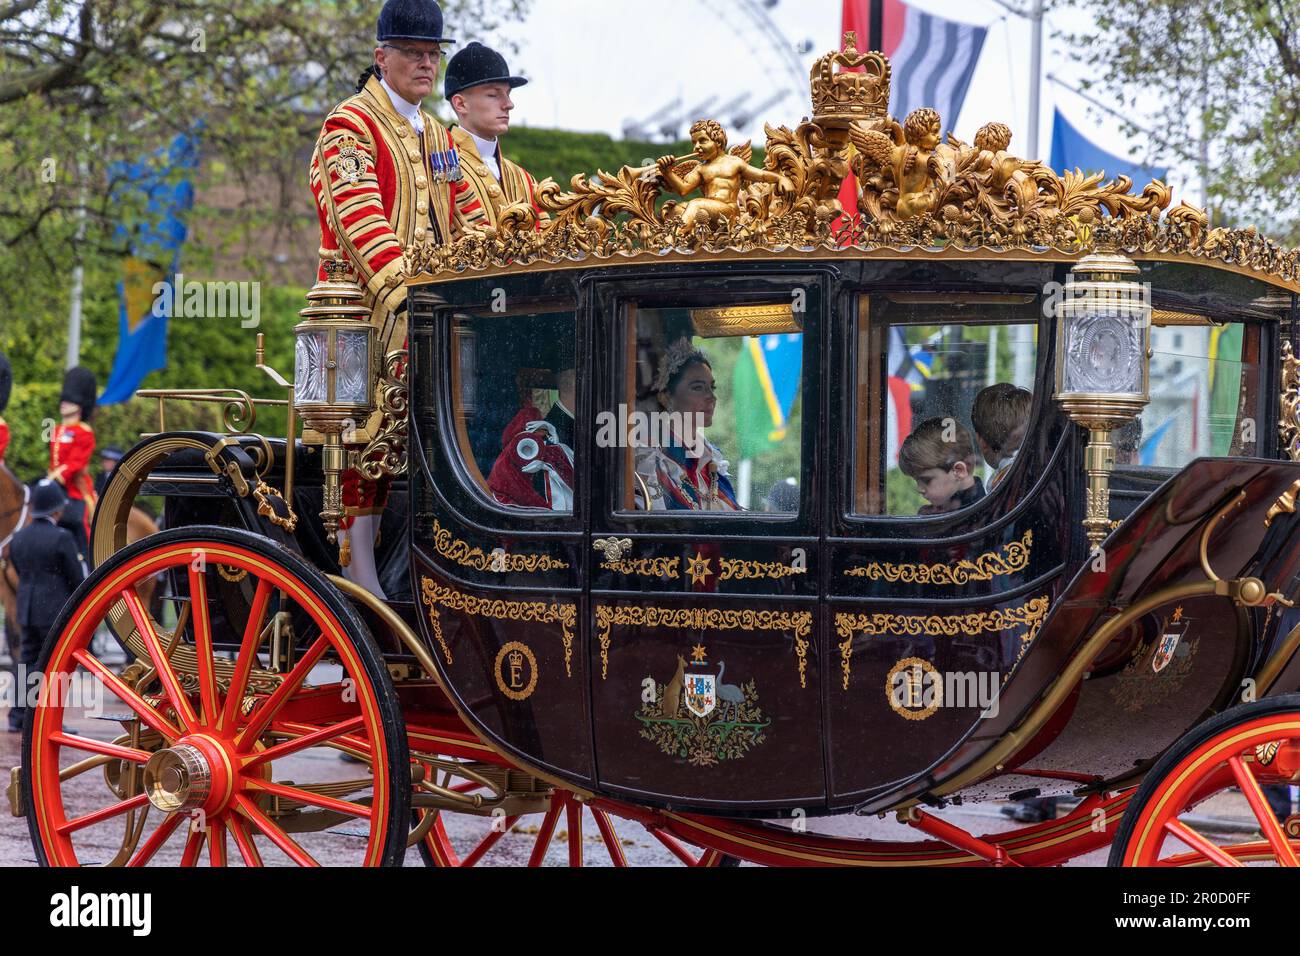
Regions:
M 844 0 L 844 31 L 858 34 L 858 48 L 871 36 L 871 0 Z M 923 13 L 902 0 L 884 0 L 884 49 L 893 66 L 889 113 L 900 122 L 922 107 L 939 111 L 944 131 L 953 129 L 966 103 L 971 77 L 988 30 Z M 845 212 L 858 211 L 858 185 L 850 176 L 840 196 Z

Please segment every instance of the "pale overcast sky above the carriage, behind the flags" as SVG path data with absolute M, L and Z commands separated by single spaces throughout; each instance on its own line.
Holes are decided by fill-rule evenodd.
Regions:
M 703 100 L 719 99 L 703 114 L 724 122 L 733 134 L 763 139 L 763 121 L 794 126 L 810 111 L 807 70 L 812 61 L 837 46 L 841 0 L 777 0 L 770 17 L 790 44 L 809 40 L 812 52 L 801 56 L 798 92 L 763 111 L 748 129 L 736 130 L 733 117 L 718 112 L 741 94 L 750 92 L 757 105 L 794 85 L 790 69 L 758 30 L 749 26 L 736 0 L 532 0 L 533 10 L 523 23 L 502 30 L 519 46 L 516 73 L 533 82 L 515 96 L 515 121 L 529 126 L 569 130 L 599 130 L 621 137 L 629 121 L 645 120 L 682 99 L 680 112 Z M 915 7 L 949 20 L 989 27 L 983 56 L 971 82 L 965 109 L 957 122 L 944 117 L 946 127 L 970 140 L 991 121 L 1004 121 L 1015 133 L 1013 151 L 1027 152 L 1028 75 L 1031 26 L 993 0 L 910 0 Z M 759 3 L 758 5 L 762 5 Z M 1026 4 L 1027 5 L 1027 4 Z M 1070 61 L 1054 30 L 1079 31 L 1089 18 L 1075 10 L 1049 14 L 1044 31 L 1044 74 L 1052 73 L 1071 86 L 1086 75 Z M 866 38 L 862 38 L 866 46 Z M 1144 101 L 1152 107 L 1156 94 Z M 1141 140 L 1130 140 L 1118 120 L 1089 107 L 1061 86 L 1043 82 L 1040 159 L 1049 159 L 1052 109 L 1060 105 L 1066 117 L 1093 140 L 1119 156 L 1160 160 L 1173 166 L 1175 195 L 1197 202 L 1187 172 L 1170 157 L 1148 157 Z M 692 117 L 701 118 L 701 117 Z M 902 117 L 900 117 L 902 118 Z M 576 170 L 575 170 L 576 172 Z

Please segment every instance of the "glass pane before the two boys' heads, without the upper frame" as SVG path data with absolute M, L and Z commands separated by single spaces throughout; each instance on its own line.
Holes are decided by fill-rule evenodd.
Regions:
M 884 493 L 859 493 L 858 510 L 946 514 L 997 488 L 1015 466 L 1034 408 L 1037 325 L 892 325 L 859 339 L 859 347 L 878 342 L 885 355 L 874 402 L 864 402 L 859 382 L 857 429 L 868 445 L 858 460 L 880 457 Z M 878 367 L 870 354 L 864 359 L 863 375 Z M 881 436 L 875 447 L 863 431 L 872 427 Z M 870 475 L 859 483 L 864 477 L 870 485 Z

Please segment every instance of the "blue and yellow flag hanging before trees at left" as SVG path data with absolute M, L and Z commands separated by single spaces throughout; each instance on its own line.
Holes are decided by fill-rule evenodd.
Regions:
M 117 285 L 117 356 L 100 405 L 129 401 L 144 376 L 166 368 L 168 315 L 155 310 L 156 290 L 177 272 L 187 235 L 185 215 L 194 206 L 190 174 L 196 166 L 198 144 L 182 133 L 168 150 L 143 163 L 118 163 L 109 170 L 110 181 L 122 183 L 125 191 L 142 194 L 144 215 L 139 222 L 117 228 L 117 238 L 129 243 L 130 255 Z

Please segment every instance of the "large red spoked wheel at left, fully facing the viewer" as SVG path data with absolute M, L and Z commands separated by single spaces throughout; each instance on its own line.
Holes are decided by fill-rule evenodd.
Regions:
M 139 596 L 160 572 L 181 596 L 170 626 Z M 91 639 L 124 610 L 146 654 L 114 670 Z M 82 585 L 40 669 L 22 774 L 40 862 L 400 865 L 396 695 L 365 624 L 296 554 L 226 528 L 152 536 Z

